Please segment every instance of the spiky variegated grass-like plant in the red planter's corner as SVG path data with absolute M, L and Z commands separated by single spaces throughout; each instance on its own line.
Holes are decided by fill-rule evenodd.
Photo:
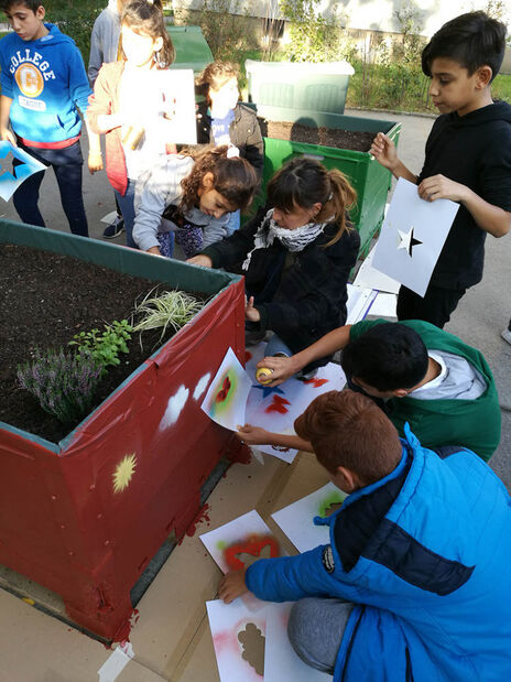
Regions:
M 133 332 L 146 332 L 149 329 L 162 329 L 157 343 L 162 340 L 168 328 L 177 332 L 192 320 L 204 306 L 202 301 L 184 293 L 183 291 L 165 291 L 156 296 L 148 293 L 143 301 L 137 305 L 133 318 L 139 322 L 133 325 Z M 140 337 L 142 343 L 142 337 Z

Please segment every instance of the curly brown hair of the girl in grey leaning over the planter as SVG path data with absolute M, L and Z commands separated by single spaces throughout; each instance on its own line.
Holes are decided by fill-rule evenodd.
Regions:
M 247 208 L 259 186 L 258 176 L 252 165 L 240 156 L 227 158 L 227 144 L 208 145 L 200 151 L 191 149 L 181 153 L 195 161 L 192 172 L 181 181 L 183 198 L 181 206 L 189 210 L 196 203 L 203 177 L 213 173 L 213 188 L 227 199 L 232 210 Z

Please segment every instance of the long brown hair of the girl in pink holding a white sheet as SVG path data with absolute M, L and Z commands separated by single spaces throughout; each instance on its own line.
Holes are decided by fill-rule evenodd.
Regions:
M 163 22 L 163 9 L 161 0 L 148 2 L 148 0 L 129 0 L 124 4 L 121 13 L 121 25 L 126 24 L 135 33 L 150 35 L 154 41 L 157 37 L 163 40 L 162 48 L 155 54 L 156 68 L 168 68 L 175 59 L 175 50 L 168 33 L 165 31 Z M 119 37 L 119 50 L 126 59 L 122 50 L 122 33 Z

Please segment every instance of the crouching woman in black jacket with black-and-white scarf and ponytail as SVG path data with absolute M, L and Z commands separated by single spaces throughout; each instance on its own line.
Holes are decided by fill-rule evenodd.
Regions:
M 242 262 L 247 332 L 249 339 L 274 332 L 267 355 L 298 353 L 346 321 L 346 283 L 360 246 L 346 217 L 355 201 L 340 171 L 294 159 L 268 184 L 273 208 L 191 260 L 207 268 Z

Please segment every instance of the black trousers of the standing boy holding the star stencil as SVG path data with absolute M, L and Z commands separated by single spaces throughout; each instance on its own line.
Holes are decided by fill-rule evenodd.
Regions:
M 424 320 L 441 329 L 450 320 L 467 289 L 443 289 L 430 285 L 424 299 L 406 286 L 398 294 L 398 320 Z

